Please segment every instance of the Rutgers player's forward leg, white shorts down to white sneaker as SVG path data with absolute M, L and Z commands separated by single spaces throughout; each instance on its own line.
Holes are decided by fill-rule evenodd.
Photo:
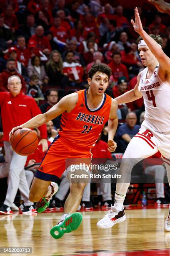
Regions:
M 140 160 L 158 152 L 154 136 L 152 137 L 152 140 L 147 138 L 147 136 L 143 135 L 145 131 L 146 129 L 141 129 L 126 148 L 120 165 L 120 170 L 118 172 L 118 175 L 121 175 L 122 178 L 117 180 L 115 204 L 111 207 L 111 210 L 105 215 L 105 217 L 97 223 L 97 227 L 99 228 L 110 228 L 116 223 L 120 223 L 126 219 L 123 202 L 130 185 L 133 166 Z

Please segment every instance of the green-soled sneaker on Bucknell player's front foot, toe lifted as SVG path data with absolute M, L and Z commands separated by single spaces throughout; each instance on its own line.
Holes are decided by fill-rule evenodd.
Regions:
M 63 220 L 54 226 L 50 230 L 50 234 L 53 238 L 59 239 L 65 233 L 70 233 L 73 230 L 76 230 L 82 222 L 82 214 L 80 212 L 74 212 L 68 214 Z

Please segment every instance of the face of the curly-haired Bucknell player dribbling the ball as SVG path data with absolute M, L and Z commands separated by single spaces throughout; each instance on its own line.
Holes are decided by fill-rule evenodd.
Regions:
M 97 93 L 97 95 L 102 95 L 107 89 L 109 78 L 107 74 L 97 71 L 92 76 L 92 79 L 88 78 L 87 81 L 93 92 Z

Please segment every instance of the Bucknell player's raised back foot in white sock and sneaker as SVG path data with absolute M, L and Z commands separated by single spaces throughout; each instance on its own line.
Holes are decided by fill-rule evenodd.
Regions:
M 49 196 L 47 197 L 42 197 L 35 206 L 35 209 L 37 210 L 38 213 L 43 212 L 47 207 L 50 205 L 50 200 L 52 199 L 52 196 L 55 195 L 59 189 L 58 184 L 55 182 L 51 182 L 50 186 L 52 188 L 52 192 Z

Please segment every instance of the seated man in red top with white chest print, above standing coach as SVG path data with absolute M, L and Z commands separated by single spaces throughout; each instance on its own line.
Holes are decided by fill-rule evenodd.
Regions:
M 31 58 L 31 51 L 26 47 L 25 37 L 18 36 L 17 37 L 17 59 L 20 61 L 25 67 L 28 66 L 28 61 Z

